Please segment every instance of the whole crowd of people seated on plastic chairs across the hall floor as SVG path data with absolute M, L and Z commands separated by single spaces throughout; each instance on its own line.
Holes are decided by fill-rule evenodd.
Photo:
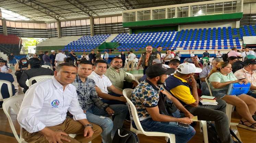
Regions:
M 236 52 L 236 49 L 231 51 Z M 106 59 L 100 58 L 99 51 L 97 54 L 92 51 L 88 55 L 89 60 L 85 57 L 76 60 L 73 51 L 67 57 L 61 50 L 58 54 L 51 51 L 50 56 L 48 52 L 41 53 L 43 62 L 41 58 L 20 59 L 15 65 L 15 75 L 25 93 L 17 116 L 23 128 L 23 138 L 28 143 L 75 143 L 89 142 L 100 134 L 103 143 L 112 143 L 115 132 L 130 115 L 122 92 L 125 88 L 134 89 L 131 101 L 143 129 L 175 134 L 177 143 L 188 142 L 195 135 L 192 126 L 183 127 L 178 124 L 191 124 L 194 116 L 198 120 L 215 122 L 221 142 L 234 143 L 225 114 L 227 104 L 234 105 L 242 116 L 239 127 L 256 131 L 256 61 L 253 52 L 245 50 L 246 56 L 242 58 L 237 56 L 243 54 L 231 52 L 231 55 L 228 53 L 228 62 L 223 62 L 219 56 L 205 67 L 195 54 L 181 63 L 175 58 L 173 50 L 167 50 L 162 64 L 159 52 L 160 47 L 157 52 L 153 52 L 151 46 L 146 47 L 146 52 L 139 60 L 145 73 L 139 84 L 122 68 L 122 56 L 112 58 L 108 67 Z M 203 53 L 203 58 L 209 58 L 208 51 Z M 42 63 L 55 67 L 52 68 L 54 72 L 50 68 L 41 67 Z M 12 72 L 5 61 L 0 61 L 0 64 L 0 74 Z M 237 65 L 234 72 L 233 65 Z M 26 85 L 28 79 L 41 75 L 52 75 L 52 78 L 36 84 L 32 82 L 34 85 L 31 87 Z M 9 74 L 3 80 L 14 82 L 11 77 Z M 209 95 L 206 78 L 212 95 L 217 97 L 218 105 L 202 105 L 199 102 L 202 100 L 201 95 Z M 247 94 L 227 95 L 230 83 L 248 82 L 252 86 Z M 3 96 L 8 98 L 8 95 L 5 91 Z M 170 103 L 175 107 L 175 112 L 167 110 Z M 112 120 L 108 118 L 110 116 Z M 136 128 L 133 120 L 131 124 Z M 77 136 L 71 138 L 69 133 Z

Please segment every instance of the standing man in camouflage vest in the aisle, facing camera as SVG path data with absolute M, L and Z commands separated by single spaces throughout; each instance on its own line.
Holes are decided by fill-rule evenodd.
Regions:
M 146 69 L 148 66 L 152 65 L 152 62 L 154 59 L 159 59 L 160 60 L 160 55 L 155 54 L 153 52 L 153 47 L 152 46 L 147 46 L 146 47 L 146 52 L 141 54 L 141 58 L 139 59 L 139 63 L 137 66 L 137 70 L 139 70 L 139 66 L 143 66 L 143 75 L 145 75 Z

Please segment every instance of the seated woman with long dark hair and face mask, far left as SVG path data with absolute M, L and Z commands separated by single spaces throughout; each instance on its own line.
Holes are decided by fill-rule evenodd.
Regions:
M 16 71 L 15 76 L 17 78 L 17 82 L 20 81 L 22 73 L 29 68 L 30 66 L 28 64 L 27 58 L 21 58 L 19 63 L 15 64 L 14 69 Z

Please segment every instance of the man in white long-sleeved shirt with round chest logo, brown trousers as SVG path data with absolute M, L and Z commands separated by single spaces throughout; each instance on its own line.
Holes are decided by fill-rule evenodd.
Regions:
M 87 143 L 102 132 L 89 123 L 79 106 L 76 88 L 76 66 L 59 64 L 51 79 L 33 84 L 25 94 L 17 120 L 28 143 Z M 66 117 L 70 112 L 73 119 Z M 75 138 L 69 133 L 77 134 Z

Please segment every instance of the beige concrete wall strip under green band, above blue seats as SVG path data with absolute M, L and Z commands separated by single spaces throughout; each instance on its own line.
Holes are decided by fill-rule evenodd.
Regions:
M 180 30 L 182 29 L 199 29 L 199 28 L 218 28 L 218 27 L 231 27 L 235 28 L 236 27 L 236 21 L 229 21 L 229 22 L 209 22 L 209 23 L 195 23 L 195 24 L 188 24 L 188 25 L 180 25 Z

